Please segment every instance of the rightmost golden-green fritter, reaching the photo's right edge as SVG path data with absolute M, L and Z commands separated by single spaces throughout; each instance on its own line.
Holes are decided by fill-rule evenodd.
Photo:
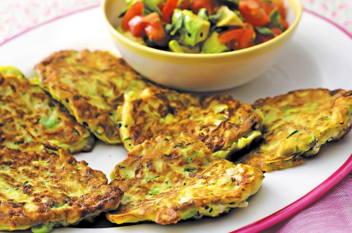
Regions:
M 302 163 L 351 130 L 352 91 L 307 89 L 255 101 L 264 114 L 263 144 L 237 162 L 262 171 Z

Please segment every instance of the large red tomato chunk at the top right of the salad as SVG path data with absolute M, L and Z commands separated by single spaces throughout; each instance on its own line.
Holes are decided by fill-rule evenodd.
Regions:
M 264 26 L 270 22 L 270 18 L 256 0 L 240 0 L 239 8 L 244 21 L 254 27 Z

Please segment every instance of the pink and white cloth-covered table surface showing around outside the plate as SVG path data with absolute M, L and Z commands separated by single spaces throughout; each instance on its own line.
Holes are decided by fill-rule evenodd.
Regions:
M 49 19 L 100 0 L 0 0 L 0 44 Z M 304 8 L 352 33 L 352 0 L 302 0 Z M 263 233 L 352 232 L 352 177 L 346 176 L 318 201 Z

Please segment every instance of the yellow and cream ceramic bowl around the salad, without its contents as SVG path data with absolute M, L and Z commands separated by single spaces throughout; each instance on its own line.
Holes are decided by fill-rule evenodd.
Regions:
M 115 28 L 125 0 L 103 0 L 102 10 L 122 57 L 142 76 L 156 83 L 187 91 L 218 91 L 242 85 L 264 73 L 291 39 L 301 18 L 300 0 L 286 0 L 289 28 L 262 44 L 219 54 L 180 54 L 140 45 Z

